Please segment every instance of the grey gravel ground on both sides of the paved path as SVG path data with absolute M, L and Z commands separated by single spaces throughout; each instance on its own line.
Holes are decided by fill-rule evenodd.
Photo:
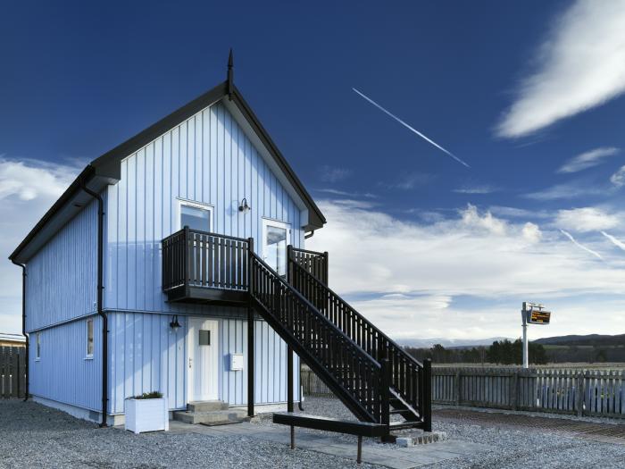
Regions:
M 337 399 L 307 398 L 305 412 L 349 417 Z M 264 418 L 258 425 L 273 425 Z M 501 429 L 459 420 L 436 420 L 453 440 L 487 444 L 492 451 L 441 465 L 464 467 L 625 467 L 625 445 L 600 443 L 528 429 Z M 353 440 L 351 436 L 339 439 Z M 437 443 L 444 449 L 445 442 Z M 0 401 L 0 467 L 359 467 L 353 460 L 248 438 L 196 433 L 145 433 L 100 429 L 70 415 L 20 400 Z M 361 469 L 379 467 L 361 465 Z

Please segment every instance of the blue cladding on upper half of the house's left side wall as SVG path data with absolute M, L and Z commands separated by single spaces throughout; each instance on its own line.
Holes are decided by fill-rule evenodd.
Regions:
M 27 265 L 26 329 L 96 311 L 97 205 L 87 205 Z

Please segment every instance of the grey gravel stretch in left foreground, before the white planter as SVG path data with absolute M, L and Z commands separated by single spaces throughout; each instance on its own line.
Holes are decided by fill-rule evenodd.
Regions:
M 33 402 L 0 401 L 0 467 L 359 467 L 286 445 L 196 433 L 100 429 Z M 377 466 L 361 465 L 362 469 Z

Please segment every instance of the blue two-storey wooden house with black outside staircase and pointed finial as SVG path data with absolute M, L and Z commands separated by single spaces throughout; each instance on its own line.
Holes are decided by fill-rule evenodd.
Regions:
M 299 397 L 299 360 L 361 421 L 427 426 L 424 365 L 327 286 L 323 214 L 228 79 L 89 163 L 10 256 L 29 395 L 102 424 Z M 427 368 L 427 366 L 426 366 Z

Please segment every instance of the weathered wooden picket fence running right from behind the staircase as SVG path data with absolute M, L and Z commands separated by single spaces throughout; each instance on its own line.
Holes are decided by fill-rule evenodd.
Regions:
M 302 367 L 304 396 L 331 391 Z M 432 402 L 449 406 L 625 418 L 625 372 L 521 368 L 432 368 Z

